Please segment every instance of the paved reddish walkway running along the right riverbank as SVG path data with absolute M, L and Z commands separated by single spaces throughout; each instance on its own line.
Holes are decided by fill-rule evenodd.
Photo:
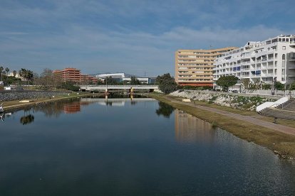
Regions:
M 284 133 L 284 134 L 291 134 L 291 135 L 295 136 L 295 129 L 291 128 L 289 126 L 284 126 L 284 125 L 281 125 L 281 124 L 274 124 L 274 123 L 269 122 L 269 121 L 263 121 L 263 120 L 260 120 L 260 119 L 255 119 L 255 118 L 253 118 L 251 116 L 243 116 L 243 115 L 240 115 L 240 114 L 234 114 L 234 113 L 229 112 L 229 111 L 223 111 L 223 110 L 220 110 L 220 109 L 214 109 L 212 107 L 204 107 L 204 106 L 200 106 L 200 105 L 195 105 L 192 102 L 189 102 L 189 103 L 180 102 L 180 101 L 177 101 L 175 99 L 170 99 L 170 101 L 175 102 L 177 104 L 184 104 L 184 105 L 188 105 L 188 106 L 191 106 L 191 107 L 204 109 L 204 110 L 207 110 L 207 111 L 212 111 L 212 112 L 217 113 L 217 114 L 222 114 L 224 116 L 229 116 L 229 117 L 231 117 L 233 119 L 238 119 L 238 120 L 241 120 L 241 121 L 247 121 L 247 122 L 252 123 L 252 124 L 263 126 L 263 127 L 267 128 L 267 129 L 272 129 L 274 131 L 279 131 L 279 132 Z

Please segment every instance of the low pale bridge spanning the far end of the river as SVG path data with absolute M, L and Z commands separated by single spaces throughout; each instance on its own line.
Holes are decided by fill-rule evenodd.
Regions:
M 80 89 L 89 92 L 109 92 L 110 90 L 128 90 L 128 92 L 148 90 L 149 92 L 153 92 L 158 87 L 157 85 L 81 85 Z

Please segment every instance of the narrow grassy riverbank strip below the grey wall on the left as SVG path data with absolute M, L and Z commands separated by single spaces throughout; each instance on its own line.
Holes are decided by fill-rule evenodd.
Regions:
M 19 102 L 19 100 L 5 101 L 5 102 L 3 102 L 3 109 L 4 109 L 4 111 L 11 111 L 14 109 L 20 109 L 20 108 L 28 107 L 28 106 L 38 104 L 38 103 L 56 102 L 56 101 L 62 100 L 62 99 L 88 97 L 90 95 L 92 95 L 92 94 L 83 92 L 83 93 L 71 93 L 71 94 L 60 95 L 60 96 L 55 96 L 55 97 L 48 97 L 48 98 L 26 99 L 26 100 L 29 100 L 29 102 L 23 102 L 23 103 Z

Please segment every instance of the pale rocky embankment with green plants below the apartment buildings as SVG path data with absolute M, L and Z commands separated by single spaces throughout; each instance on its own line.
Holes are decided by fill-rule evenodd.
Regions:
M 257 96 L 254 94 L 211 92 L 198 90 L 179 90 L 170 93 L 170 95 L 251 111 L 254 111 L 257 106 L 263 104 L 264 102 L 273 102 L 281 98 L 276 96 Z

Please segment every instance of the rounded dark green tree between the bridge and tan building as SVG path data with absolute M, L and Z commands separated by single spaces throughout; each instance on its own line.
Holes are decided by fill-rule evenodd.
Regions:
M 164 75 L 158 75 L 156 79 L 156 84 L 159 85 L 159 89 L 165 94 L 174 92 L 177 89 L 177 84 L 173 77 L 170 76 L 170 73 Z

